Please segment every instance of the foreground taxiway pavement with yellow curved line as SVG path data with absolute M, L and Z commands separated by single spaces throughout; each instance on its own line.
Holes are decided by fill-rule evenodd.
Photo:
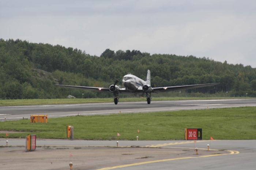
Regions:
M 5 146 L 5 140 L 0 139 L 0 146 Z M 37 139 L 38 147 L 33 152 L 25 152 L 25 139 L 8 140 L 12 147 L 0 147 L 0 166 L 6 170 L 34 169 L 35 166 L 40 170 L 69 169 L 70 154 L 74 170 L 253 170 L 256 167 L 256 140 L 199 140 L 196 143 L 139 140 L 119 141 L 119 146 L 114 147 L 116 141 Z M 207 144 L 212 150 L 207 151 Z M 198 155 L 195 147 L 199 149 Z

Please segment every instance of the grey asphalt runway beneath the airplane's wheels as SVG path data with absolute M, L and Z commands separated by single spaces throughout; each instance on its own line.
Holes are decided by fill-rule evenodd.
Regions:
M 48 117 L 75 115 L 108 115 L 115 113 L 140 113 L 159 111 L 178 111 L 192 109 L 229 108 L 256 106 L 256 99 L 227 100 L 178 100 L 153 101 L 147 104 L 140 102 L 91 103 L 91 104 L 59 104 L 0 107 L 0 121 L 29 118 L 30 114 L 47 114 Z

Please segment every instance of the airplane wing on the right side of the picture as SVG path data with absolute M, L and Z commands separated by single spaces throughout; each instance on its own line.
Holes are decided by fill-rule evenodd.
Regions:
M 208 83 L 208 84 L 195 84 L 195 85 L 185 85 L 185 86 L 169 86 L 169 87 L 157 87 L 153 88 L 153 92 L 171 92 L 178 90 L 187 90 L 187 89 L 195 89 L 201 87 L 214 86 L 219 83 Z

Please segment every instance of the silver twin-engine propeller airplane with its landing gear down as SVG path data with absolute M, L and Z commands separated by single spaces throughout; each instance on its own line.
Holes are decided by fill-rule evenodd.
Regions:
M 76 89 L 84 89 L 84 90 L 94 90 L 97 92 L 111 92 L 114 94 L 114 104 L 117 104 L 119 101 L 119 93 L 136 93 L 136 94 L 146 94 L 147 104 L 151 103 L 151 93 L 158 92 L 170 92 L 170 91 L 178 91 L 178 90 L 187 90 L 187 89 L 195 89 L 202 88 L 207 86 L 214 86 L 219 83 L 208 83 L 208 84 L 196 84 L 196 85 L 185 85 L 185 86 L 166 86 L 166 87 L 157 87 L 153 88 L 150 84 L 150 70 L 147 70 L 147 78 L 146 81 L 141 78 L 128 73 L 123 77 L 123 85 L 124 88 L 120 88 L 116 84 L 118 80 L 114 82 L 114 84 L 110 85 L 109 88 L 101 88 L 101 87 L 86 87 L 86 86 L 71 86 L 71 85 L 58 85 L 66 88 L 76 88 Z

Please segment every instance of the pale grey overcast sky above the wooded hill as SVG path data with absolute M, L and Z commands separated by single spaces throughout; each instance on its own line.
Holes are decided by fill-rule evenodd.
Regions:
M 255 0 L 1 0 L 0 38 L 256 67 Z

